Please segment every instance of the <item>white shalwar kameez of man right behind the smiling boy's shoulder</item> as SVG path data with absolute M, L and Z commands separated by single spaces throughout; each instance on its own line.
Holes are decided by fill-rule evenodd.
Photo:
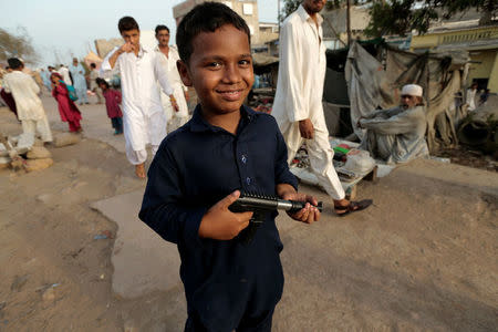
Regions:
M 178 104 L 178 112 L 175 112 L 169 96 L 163 92 L 160 93 L 160 101 L 164 110 L 166 111 L 166 117 L 168 121 L 168 132 L 173 132 L 186 124 L 189 120 L 187 100 L 185 98 L 187 86 L 185 86 L 181 82 L 178 69 L 176 66 L 176 62 L 179 60 L 179 54 L 176 46 L 169 46 L 168 56 L 160 52 L 159 46 L 156 46 L 154 51 L 156 52 L 157 60 L 168 76 L 169 84 L 174 91 L 173 95 Z

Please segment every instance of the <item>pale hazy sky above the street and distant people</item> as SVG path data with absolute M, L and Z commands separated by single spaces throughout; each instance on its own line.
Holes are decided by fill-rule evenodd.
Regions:
M 39 66 L 70 64 L 95 52 L 95 39 L 120 38 L 117 21 L 132 15 L 141 30 L 166 24 L 176 32 L 173 7 L 183 0 L 0 0 L 0 28 L 25 28 L 40 55 Z M 260 22 L 277 22 L 278 0 L 258 0 Z M 174 39 L 172 39 L 174 42 Z

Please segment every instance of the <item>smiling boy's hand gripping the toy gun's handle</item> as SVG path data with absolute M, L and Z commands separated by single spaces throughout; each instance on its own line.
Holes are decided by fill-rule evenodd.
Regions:
M 235 214 L 228 207 L 239 198 L 240 191 L 236 190 L 215 204 L 204 215 L 199 226 L 199 237 L 215 240 L 231 240 L 248 227 L 252 212 Z

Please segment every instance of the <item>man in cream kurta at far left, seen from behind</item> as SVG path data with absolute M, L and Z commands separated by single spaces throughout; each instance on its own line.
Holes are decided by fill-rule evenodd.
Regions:
M 46 120 L 43 104 L 38 96 L 40 86 L 30 75 L 22 72 L 24 65 L 19 59 L 9 59 L 9 66 L 13 71 L 6 74 L 3 84 L 6 92 L 12 93 L 15 101 L 22 131 L 33 136 L 38 132 L 43 142 L 52 142 L 49 121 Z

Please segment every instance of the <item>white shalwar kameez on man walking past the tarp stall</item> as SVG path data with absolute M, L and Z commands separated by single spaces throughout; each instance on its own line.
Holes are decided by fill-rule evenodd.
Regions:
M 310 118 L 314 138 L 305 139 L 305 143 L 311 169 L 333 199 L 343 199 L 344 189 L 333 166 L 333 151 L 323 115 L 326 59 L 321 27 L 323 18 L 317 17 L 318 27 L 301 4 L 283 22 L 279 77 L 271 114 L 286 139 L 289 164 L 304 142 L 299 121 Z

